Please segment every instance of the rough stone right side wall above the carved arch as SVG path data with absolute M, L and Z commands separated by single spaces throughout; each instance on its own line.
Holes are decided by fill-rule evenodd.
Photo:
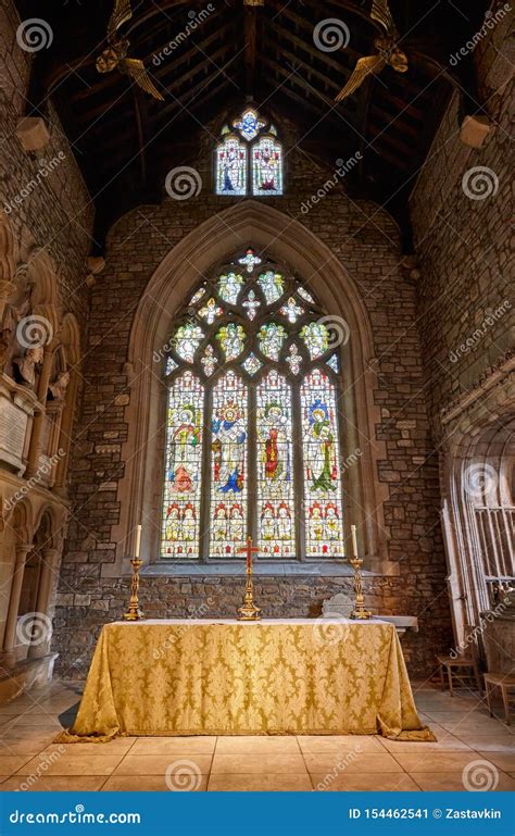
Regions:
M 437 444 L 443 433 L 441 411 L 513 350 L 512 25 L 506 17 L 475 52 L 491 134 L 480 149 L 460 140 L 454 96 L 411 201 L 422 274 L 417 317 Z M 485 191 L 469 174 L 476 166 L 485 169 Z

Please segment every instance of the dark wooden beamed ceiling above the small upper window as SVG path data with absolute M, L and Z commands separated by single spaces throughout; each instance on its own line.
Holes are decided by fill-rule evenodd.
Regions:
M 120 214 L 159 200 L 166 172 L 191 163 L 201 144 L 214 141 L 225 115 L 248 99 L 263 103 L 279 125 L 281 117 L 293 123 L 301 151 L 328 170 L 360 150 L 348 189 L 387 204 L 401 222 L 453 86 L 479 109 L 472 61 L 453 74 L 448 59 L 477 30 L 489 0 L 473 11 L 468 0 L 429 10 L 425 0 L 390 0 L 401 36 L 407 33 L 402 47 L 410 70 L 401 75 L 387 67 L 339 104 L 335 96 L 357 59 L 376 51 L 372 0 L 264 0 L 263 7 L 131 0 L 134 16 L 122 34 L 163 102 L 116 71 L 96 70 L 113 2 L 48 0 L 53 43 L 35 55 L 27 101 L 27 113 L 42 114 L 48 100 L 54 102 L 96 202 L 98 240 Z M 37 0 L 17 5 L 22 20 L 41 16 Z M 193 15 L 201 22 L 183 37 Z M 315 43 L 316 24 L 328 18 L 348 27 L 344 49 Z

